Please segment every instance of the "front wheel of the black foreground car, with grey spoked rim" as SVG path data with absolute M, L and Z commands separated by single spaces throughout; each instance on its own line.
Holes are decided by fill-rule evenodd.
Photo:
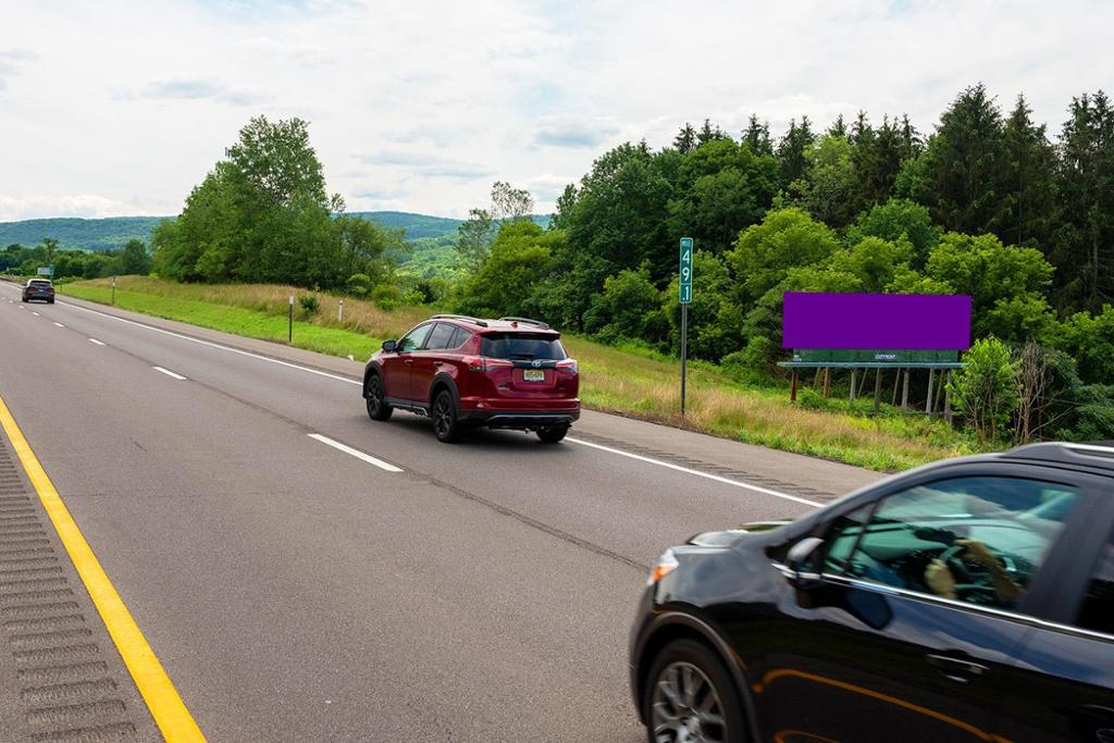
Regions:
M 682 676 L 687 675 L 690 683 L 695 686 L 694 697 L 685 698 L 680 695 L 681 707 L 672 702 L 662 687 L 676 686 L 682 682 Z M 683 687 L 682 687 L 683 688 Z M 688 688 L 692 688 L 690 686 Z M 678 688 L 673 690 L 674 694 L 680 694 Z M 709 695 L 714 694 L 715 700 L 706 710 L 702 710 L 704 703 L 709 702 Z M 649 675 L 646 678 L 645 698 L 643 710 L 646 711 L 646 735 L 651 743 L 663 740 L 654 729 L 662 724 L 676 724 L 673 731 L 673 741 L 703 740 L 701 736 L 705 730 L 709 737 L 724 743 L 744 743 L 746 741 L 745 716 L 739 701 L 739 693 L 727 675 L 720 658 L 706 645 L 692 639 L 678 639 L 670 643 L 654 658 Z M 674 713 L 675 716 L 671 716 Z

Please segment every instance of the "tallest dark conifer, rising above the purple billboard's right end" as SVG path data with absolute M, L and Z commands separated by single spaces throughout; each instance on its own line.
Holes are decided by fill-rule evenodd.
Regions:
M 940 117 L 922 157 L 916 201 L 955 232 L 996 232 L 1008 221 L 1001 113 L 983 84 L 964 90 Z

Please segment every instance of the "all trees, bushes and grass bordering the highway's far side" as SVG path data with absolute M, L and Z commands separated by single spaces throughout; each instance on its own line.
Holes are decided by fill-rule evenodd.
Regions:
M 670 146 L 602 154 L 548 221 L 531 216 L 528 192 L 497 182 L 455 235 L 416 243 L 344 213 L 305 121 L 258 117 L 182 215 L 156 228 L 146 257 L 163 281 L 128 280 L 117 303 L 226 330 L 236 316 L 247 330 L 235 332 L 281 340 L 289 293 L 312 294 L 300 301 L 306 332 L 295 343 L 359 358 L 432 306 L 536 316 L 585 362 L 588 404 L 680 423 L 685 235 L 697 247 L 688 348 L 698 389 L 685 426 L 878 469 L 1040 439 L 1114 439 L 1111 131 L 1102 91 L 1072 98 L 1053 140 L 1023 97 L 1007 113 L 981 85 L 957 95 L 929 134 L 905 116 L 864 113 L 822 130 L 802 116 L 780 137 L 758 116 L 737 134 L 705 119 Z M 66 291 L 105 299 L 104 282 Z M 885 404 L 872 416 L 849 400 L 852 377 L 839 370 L 830 398 L 818 375 L 790 407 L 778 366 L 789 291 L 970 295 L 975 344 L 947 387 L 955 424 Z M 203 311 L 217 306 L 255 314 Z M 895 371 L 871 381 L 897 399 Z M 927 374 L 913 375 L 910 408 L 928 395 Z

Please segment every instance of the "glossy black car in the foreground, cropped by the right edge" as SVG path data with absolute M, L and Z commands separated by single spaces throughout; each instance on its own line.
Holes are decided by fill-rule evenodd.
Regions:
M 1114 741 L 1114 448 L 697 535 L 651 573 L 631 681 L 657 743 Z

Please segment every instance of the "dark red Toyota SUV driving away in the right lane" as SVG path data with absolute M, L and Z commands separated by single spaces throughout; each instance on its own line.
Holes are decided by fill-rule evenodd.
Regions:
M 395 408 L 433 419 L 441 441 L 466 427 L 565 438 L 580 417 L 579 369 L 560 333 L 528 317 L 433 315 L 398 341 L 384 341 L 363 372 L 372 420 Z

